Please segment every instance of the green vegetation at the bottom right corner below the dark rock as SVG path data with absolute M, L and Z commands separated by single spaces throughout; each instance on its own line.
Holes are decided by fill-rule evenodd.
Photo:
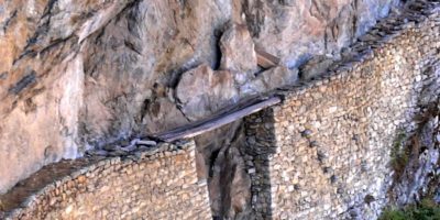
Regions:
M 403 209 L 385 209 L 380 220 L 440 220 L 440 205 L 432 199 L 424 199 L 418 205 Z

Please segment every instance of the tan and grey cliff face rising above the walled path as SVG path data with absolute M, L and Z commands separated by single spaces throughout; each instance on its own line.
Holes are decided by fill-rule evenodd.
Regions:
M 305 61 L 337 57 L 398 4 L 1 0 L 0 193 L 88 147 L 186 124 L 295 81 Z M 263 72 L 255 46 L 279 66 Z

